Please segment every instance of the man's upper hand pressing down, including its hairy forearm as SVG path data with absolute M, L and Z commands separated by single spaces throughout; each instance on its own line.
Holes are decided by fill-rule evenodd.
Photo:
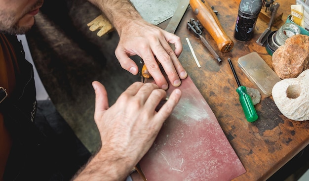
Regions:
M 106 14 L 119 34 L 115 53 L 122 68 L 136 75 L 138 66 L 130 56 L 138 55 L 144 60 L 155 83 L 167 90 L 168 84 L 155 61 L 156 56 L 173 86 L 180 86 L 181 79 L 187 78 L 187 72 L 178 59 L 182 52 L 179 37 L 146 22 L 128 0 L 89 1 Z M 169 44 L 173 44 L 175 49 Z

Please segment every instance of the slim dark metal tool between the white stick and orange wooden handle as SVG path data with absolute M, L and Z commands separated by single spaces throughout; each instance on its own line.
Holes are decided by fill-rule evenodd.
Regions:
M 194 33 L 196 38 L 199 38 L 206 48 L 210 51 L 210 53 L 215 57 L 215 59 L 220 63 L 222 60 L 219 55 L 215 52 L 215 50 L 209 45 L 207 40 L 202 36 L 202 26 L 200 25 L 199 21 L 195 21 L 193 18 L 187 22 L 187 28 L 190 32 Z

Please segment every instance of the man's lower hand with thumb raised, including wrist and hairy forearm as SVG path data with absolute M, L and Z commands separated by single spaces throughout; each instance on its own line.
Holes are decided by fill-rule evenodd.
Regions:
M 150 149 L 181 91 L 174 90 L 156 112 L 166 92 L 155 84 L 132 84 L 112 107 L 108 105 L 104 86 L 96 81 L 92 85 L 96 94 L 94 119 L 102 147 L 76 179 L 124 180 Z

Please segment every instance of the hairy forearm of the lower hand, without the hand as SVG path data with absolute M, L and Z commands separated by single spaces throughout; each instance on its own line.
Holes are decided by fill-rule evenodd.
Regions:
M 116 157 L 111 150 L 100 150 L 76 174 L 73 181 L 124 181 L 133 168 L 125 158 Z

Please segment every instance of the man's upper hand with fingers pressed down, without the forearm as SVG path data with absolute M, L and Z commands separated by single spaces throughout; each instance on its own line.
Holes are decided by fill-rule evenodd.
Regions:
M 155 61 L 154 56 L 156 56 L 172 85 L 180 86 L 180 79 L 187 77 L 185 69 L 178 60 L 178 56 L 182 52 L 180 38 L 142 19 L 131 21 L 124 27 L 120 32 L 120 41 L 116 48 L 116 57 L 122 68 L 132 74 L 137 74 L 137 65 L 130 56 L 138 55 L 144 60 L 155 83 L 161 89 L 166 90 L 168 84 Z M 174 44 L 175 50 L 171 48 L 169 43 Z

